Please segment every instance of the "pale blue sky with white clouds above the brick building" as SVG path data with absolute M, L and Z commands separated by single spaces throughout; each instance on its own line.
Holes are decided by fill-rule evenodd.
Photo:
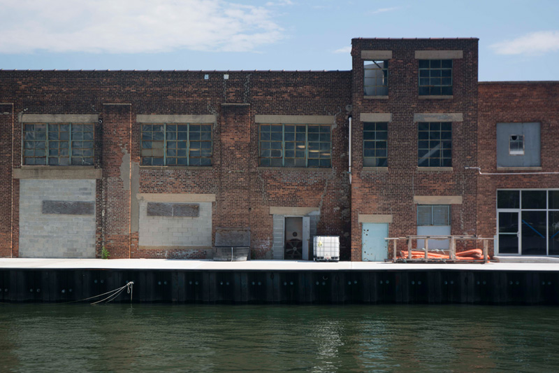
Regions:
M 559 0 L 0 0 L 0 69 L 349 70 L 351 38 L 479 38 L 479 80 L 559 80 Z

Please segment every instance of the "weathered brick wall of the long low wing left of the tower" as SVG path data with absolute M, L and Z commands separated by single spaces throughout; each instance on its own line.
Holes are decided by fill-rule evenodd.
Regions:
M 210 75 L 208 80 L 204 79 L 206 73 Z M 224 73 L 228 73 L 228 80 L 224 80 Z M 270 206 L 320 206 L 317 233 L 342 236 L 342 258 L 348 259 L 345 107 L 351 101 L 350 87 L 350 71 L 0 71 L 0 102 L 13 102 L 15 113 L 99 113 L 103 119 L 96 129 L 96 146 L 103 148 L 102 153 L 96 152 L 95 166 L 103 168 L 103 178 L 97 181 L 97 255 L 104 243 L 111 258 L 205 256 L 203 252 L 140 250 L 138 233 L 129 233 L 133 181 L 125 179 L 129 167 L 140 163 L 141 127 L 136 122 L 137 114 L 215 114 L 213 166 L 140 167 L 138 192 L 216 194 L 214 230 L 236 223 L 250 225 L 256 258 L 265 258 L 272 247 Z M 245 109 L 222 104 L 249 106 L 240 106 L 247 112 L 237 113 Z M 265 114 L 336 115 L 333 168 L 259 168 L 259 132 L 254 115 Z M 15 168 L 21 167 L 20 126 L 16 123 L 14 132 Z M 235 157 L 231 158 L 231 146 L 238 143 L 246 145 L 235 148 Z M 230 174 L 231 167 L 235 172 Z M 13 188 L 13 248 L 17 255 L 17 180 Z M 235 219 L 239 221 L 233 223 Z M 10 231 L 5 218 L 0 218 L 0 224 L 0 232 Z M 1 246 L 1 250 L 0 255 L 6 256 L 9 248 Z

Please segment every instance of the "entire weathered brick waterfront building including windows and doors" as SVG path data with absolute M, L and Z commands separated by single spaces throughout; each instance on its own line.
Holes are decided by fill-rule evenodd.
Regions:
M 559 253 L 559 83 L 478 83 L 475 38 L 352 45 L 351 71 L 0 71 L 0 256 L 307 259 L 337 235 L 383 260 L 413 234 Z

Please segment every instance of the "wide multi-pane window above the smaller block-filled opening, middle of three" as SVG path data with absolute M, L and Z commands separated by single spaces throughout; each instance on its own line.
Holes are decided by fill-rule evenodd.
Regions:
M 212 125 L 142 125 L 144 166 L 211 166 Z

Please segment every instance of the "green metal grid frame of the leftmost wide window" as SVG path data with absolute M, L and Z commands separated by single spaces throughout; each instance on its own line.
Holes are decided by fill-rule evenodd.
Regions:
M 27 127 L 29 125 L 33 125 L 33 126 L 44 125 L 45 126 L 45 132 L 44 132 L 45 133 L 45 139 L 44 140 L 36 140 L 36 139 L 28 140 L 28 139 L 26 139 L 27 131 L 26 131 L 25 127 Z M 68 125 L 68 139 L 67 140 L 49 139 L 50 126 L 57 126 L 58 129 L 57 129 L 56 132 L 60 133 L 61 131 L 59 129 L 60 129 L 61 125 Z M 73 127 L 74 126 L 91 126 L 91 131 L 87 131 L 87 132 L 90 132 L 92 134 L 92 139 L 83 139 L 83 138 L 82 139 L 73 139 L 72 132 L 73 132 Z M 33 130 L 32 132 L 36 133 L 37 131 Z M 62 131 L 62 132 L 64 132 L 64 131 Z M 81 132 L 83 134 L 85 131 L 82 130 Z M 83 137 L 83 135 L 82 135 L 82 137 Z M 42 157 L 26 157 L 26 155 L 25 155 L 25 150 L 26 150 L 25 142 L 26 141 L 44 141 L 45 142 L 45 148 L 44 148 L 45 149 L 45 155 L 42 156 Z M 68 143 L 68 157 L 67 157 L 68 158 L 68 164 L 50 164 L 50 162 L 49 162 L 50 158 L 61 158 L 61 156 L 59 154 L 58 155 L 50 155 L 50 150 L 51 150 L 50 146 L 49 146 L 50 141 L 52 141 L 53 143 L 54 142 L 57 142 L 57 143 L 62 143 L 62 142 L 66 143 L 67 142 Z M 96 139 L 95 139 L 95 123 L 86 123 L 86 122 L 79 122 L 79 123 L 78 122 L 24 122 L 24 123 L 22 123 L 22 153 L 21 153 L 22 166 L 41 166 L 41 167 L 42 166 L 50 166 L 50 167 L 94 166 L 95 165 L 95 148 L 96 148 L 95 141 L 96 141 Z M 82 147 L 74 148 L 73 147 L 73 142 L 75 142 L 75 143 L 91 142 L 92 147 L 91 148 L 84 148 L 82 146 Z M 35 149 L 35 148 L 33 148 L 33 149 Z M 60 146 L 58 146 L 57 149 L 60 150 L 60 149 L 64 149 L 64 148 L 61 148 Z M 73 153 L 72 150 L 73 149 L 76 149 L 76 150 L 78 150 L 78 149 L 79 150 L 89 150 L 89 149 L 91 149 L 92 150 L 92 155 L 91 156 L 84 156 L 84 155 L 74 155 L 73 156 L 72 155 L 72 153 Z M 55 148 L 52 148 L 52 150 L 55 150 Z M 74 158 L 82 158 L 82 159 L 83 158 L 91 158 L 92 162 L 87 163 L 87 164 L 72 164 L 72 158 L 73 157 Z M 26 162 L 27 158 L 34 158 L 34 159 L 44 158 L 45 159 L 45 164 L 36 164 L 36 163 L 29 164 L 29 163 Z M 66 158 L 66 157 L 64 157 L 64 158 Z

